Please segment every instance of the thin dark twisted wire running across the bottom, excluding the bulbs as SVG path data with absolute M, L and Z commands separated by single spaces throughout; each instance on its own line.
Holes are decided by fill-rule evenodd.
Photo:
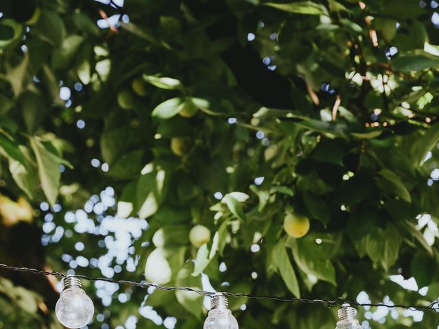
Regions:
M 25 272 L 25 273 L 33 273 L 40 274 L 44 276 L 60 276 L 62 278 L 66 278 L 67 274 L 57 271 L 43 271 L 39 269 L 32 269 L 29 267 L 14 267 L 10 265 L 5 265 L 0 263 L 0 269 L 8 269 L 10 271 L 17 272 Z M 193 289 L 189 287 L 167 287 L 161 286 L 159 284 L 154 284 L 150 282 L 134 282 L 128 280 L 113 280 L 108 278 L 91 278 L 89 276 L 82 275 L 74 275 L 76 278 L 88 280 L 88 281 L 104 281 L 111 282 L 116 284 L 128 284 L 130 286 L 139 287 L 142 289 L 154 287 L 156 289 L 165 290 L 165 291 L 192 291 L 193 293 L 198 293 L 199 295 L 213 297 L 215 295 L 215 291 L 203 291 L 198 289 Z M 285 297 L 277 297 L 277 296 L 254 296 L 249 295 L 248 293 L 228 293 L 226 291 L 222 291 L 222 294 L 226 297 L 248 297 L 253 300 L 276 300 L 278 302 L 298 302 L 305 304 L 323 304 L 325 306 L 342 306 L 344 303 L 349 303 L 351 306 L 370 306 L 370 307 L 387 307 L 387 308 L 406 308 L 407 310 L 433 310 L 434 312 L 439 312 L 439 301 L 436 300 L 431 302 L 429 305 L 405 305 L 405 304 L 385 304 L 385 303 L 359 303 L 355 301 L 345 300 L 344 298 L 338 297 L 335 300 L 324 300 L 324 299 L 307 299 L 307 298 L 285 298 Z

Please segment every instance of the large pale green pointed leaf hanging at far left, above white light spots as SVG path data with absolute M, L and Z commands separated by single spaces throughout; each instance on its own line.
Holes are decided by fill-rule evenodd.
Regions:
M 54 205 L 58 197 L 58 188 L 60 187 L 61 178 L 58 156 L 48 151 L 36 138 L 30 138 L 30 145 L 36 157 L 38 175 L 40 177 L 41 186 L 43 186 L 44 194 L 49 204 Z

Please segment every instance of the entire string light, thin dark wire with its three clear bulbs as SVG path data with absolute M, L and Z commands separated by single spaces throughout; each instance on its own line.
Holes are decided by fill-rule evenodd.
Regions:
M 359 325 L 359 322 L 357 319 L 355 319 L 356 310 L 353 306 L 363 306 L 363 307 L 387 307 L 387 308 L 406 308 L 407 310 L 430 310 L 437 312 L 439 301 L 436 300 L 435 302 L 431 302 L 428 305 L 406 305 L 406 304 L 384 304 L 384 303 L 359 303 L 355 301 L 348 302 L 344 298 L 336 298 L 335 300 L 324 300 L 324 299 L 307 299 L 307 298 L 285 298 L 285 297 L 278 297 L 278 296 L 255 296 L 255 295 L 249 295 L 247 293 L 229 293 L 223 291 L 222 293 L 215 293 L 212 291 L 202 291 L 198 289 L 193 289 L 191 287 L 167 287 L 167 286 L 161 286 L 159 284 L 154 284 L 150 282 L 133 282 L 128 280 L 113 280 L 108 278 L 92 278 L 88 276 L 81 276 L 81 275 L 74 275 L 74 276 L 67 276 L 66 274 L 62 272 L 57 271 L 43 271 L 39 269 L 32 269 L 29 267 L 14 267 L 10 265 L 5 265 L 0 263 L 0 269 L 9 269 L 11 271 L 19 271 L 19 272 L 25 272 L 25 273 L 33 273 L 33 274 L 40 274 L 45 276 L 60 276 L 62 277 L 62 293 L 60 300 L 58 303 L 66 303 L 69 305 L 69 307 L 72 307 L 71 310 L 63 310 L 62 312 L 59 312 L 56 309 L 56 315 L 60 322 L 64 324 L 64 326 L 67 326 L 68 328 L 82 328 L 82 326 L 85 326 L 88 324 L 91 319 L 93 318 L 93 302 L 91 302 L 90 298 L 85 294 L 85 292 L 82 290 L 80 286 L 80 279 L 89 280 L 89 281 L 104 281 L 104 282 L 111 282 L 115 284 L 128 284 L 133 287 L 139 287 L 139 288 L 149 288 L 154 287 L 156 289 L 161 289 L 165 291 L 192 291 L 194 293 L 198 293 L 199 295 L 203 296 L 209 296 L 212 297 L 211 299 L 211 310 L 209 311 L 209 316 L 207 317 L 205 323 L 204 323 L 204 329 L 238 329 L 238 324 L 236 322 L 236 319 L 231 314 L 230 310 L 228 309 L 228 302 L 227 297 L 247 297 L 249 299 L 253 300 L 276 300 L 278 302 L 299 302 L 299 303 L 305 303 L 305 304 L 322 304 L 324 306 L 336 306 L 340 305 L 342 306 L 340 310 L 338 310 L 338 317 L 339 321 L 337 321 L 337 328 L 336 329 L 362 329 L 362 327 Z M 64 296 L 67 296 L 67 291 L 70 289 L 75 289 L 75 294 L 80 292 L 80 298 L 78 298 L 78 305 L 84 306 L 84 309 L 82 308 L 76 308 L 78 305 L 76 302 L 73 304 L 71 302 L 61 302 L 63 300 Z M 78 290 L 79 289 L 79 290 Z M 60 307 L 57 306 L 56 308 Z M 91 304 L 88 304 L 91 303 Z M 221 311 L 221 312 L 218 312 Z M 69 313 L 69 314 L 67 314 Z M 211 322 L 210 319 L 213 319 L 215 317 L 218 317 L 217 314 L 222 313 L 221 316 L 219 316 L 219 319 L 221 321 L 213 321 Z M 73 322 L 67 322 L 69 319 L 65 320 L 65 317 L 71 316 L 73 317 L 82 317 L 84 322 L 81 322 L 80 324 Z M 209 321 L 208 321 L 209 320 Z M 71 320 L 73 321 L 73 320 Z M 222 326 L 222 321 L 224 323 L 227 323 L 228 326 Z

